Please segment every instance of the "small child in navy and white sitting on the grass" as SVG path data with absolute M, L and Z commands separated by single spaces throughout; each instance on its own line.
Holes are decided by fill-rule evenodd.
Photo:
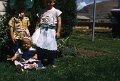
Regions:
M 24 71 L 25 69 L 45 69 L 40 60 L 37 60 L 36 49 L 32 47 L 31 39 L 24 37 L 22 46 L 18 49 L 15 55 L 11 58 L 17 67 L 17 70 Z

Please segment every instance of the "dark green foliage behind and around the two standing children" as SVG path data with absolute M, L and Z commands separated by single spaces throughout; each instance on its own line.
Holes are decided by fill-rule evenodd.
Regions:
M 45 8 L 44 0 L 8 0 L 6 7 L 7 14 L 0 17 L 0 59 L 10 54 L 13 44 L 10 40 L 8 22 L 16 12 L 24 10 L 30 18 L 31 26 L 29 30 L 31 35 L 35 31 L 35 23 L 38 20 L 37 13 Z M 56 0 L 56 8 L 62 13 L 62 37 L 67 37 L 72 33 L 72 28 L 76 24 L 76 3 L 75 0 Z

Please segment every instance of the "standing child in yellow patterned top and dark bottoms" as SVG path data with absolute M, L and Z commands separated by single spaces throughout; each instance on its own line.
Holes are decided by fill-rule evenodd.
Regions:
M 10 35 L 13 43 L 15 44 L 15 52 L 21 45 L 21 39 L 26 36 L 30 36 L 28 27 L 30 21 L 28 17 L 25 17 L 24 12 L 16 13 L 9 21 Z

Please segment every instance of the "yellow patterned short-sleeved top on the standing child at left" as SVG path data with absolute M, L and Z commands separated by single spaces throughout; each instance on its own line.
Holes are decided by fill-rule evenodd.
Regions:
M 14 37 L 16 39 L 22 39 L 23 37 L 30 36 L 28 30 L 30 21 L 28 17 L 23 17 L 22 20 L 16 17 L 12 17 L 9 21 L 9 26 L 13 27 Z

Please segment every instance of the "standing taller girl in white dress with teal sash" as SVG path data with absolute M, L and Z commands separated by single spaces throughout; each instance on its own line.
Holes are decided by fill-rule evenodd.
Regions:
M 46 51 L 47 60 L 53 67 L 54 58 L 57 51 L 56 37 L 60 37 L 61 30 L 61 11 L 54 7 L 55 0 L 45 0 L 46 9 L 40 15 L 40 22 L 32 36 L 33 43 L 38 47 L 38 55 L 44 59 L 42 51 Z M 38 27 L 37 26 L 37 27 Z M 57 28 L 56 28 L 57 27 Z M 56 31 L 57 30 L 57 31 Z M 42 54 L 42 55 L 41 55 Z

